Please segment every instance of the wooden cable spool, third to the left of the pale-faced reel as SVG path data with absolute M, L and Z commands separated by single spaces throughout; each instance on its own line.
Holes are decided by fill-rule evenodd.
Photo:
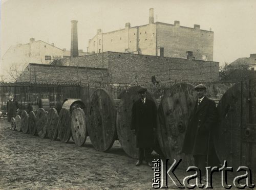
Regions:
M 44 108 L 39 108 L 36 113 L 36 131 L 39 137 L 45 138 L 47 134 L 47 113 Z

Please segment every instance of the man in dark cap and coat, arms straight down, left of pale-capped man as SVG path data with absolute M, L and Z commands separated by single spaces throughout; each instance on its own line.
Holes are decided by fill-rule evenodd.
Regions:
M 138 90 L 140 99 L 133 104 L 131 129 L 136 134 L 136 146 L 139 148 L 139 160 L 136 165 L 140 165 L 145 158 L 147 165 L 152 167 L 150 157 L 154 147 L 157 108 L 152 100 L 146 98 L 146 90 L 146 88 Z

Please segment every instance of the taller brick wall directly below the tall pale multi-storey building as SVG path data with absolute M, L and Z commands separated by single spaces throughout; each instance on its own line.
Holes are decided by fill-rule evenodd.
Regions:
M 65 65 L 79 65 L 108 68 L 110 83 L 113 84 L 140 84 L 147 86 L 152 84 L 152 76 L 155 75 L 159 84 L 174 82 L 210 82 L 219 80 L 219 62 L 187 60 L 181 58 L 169 58 L 127 54 L 117 52 L 105 52 L 91 56 L 83 56 L 62 60 Z

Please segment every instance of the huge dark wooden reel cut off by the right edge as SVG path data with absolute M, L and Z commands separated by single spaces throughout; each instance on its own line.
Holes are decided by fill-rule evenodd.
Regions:
M 220 162 L 256 171 L 256 81 L 233 85 L 218 107 L 220 124 L 214 144 Z

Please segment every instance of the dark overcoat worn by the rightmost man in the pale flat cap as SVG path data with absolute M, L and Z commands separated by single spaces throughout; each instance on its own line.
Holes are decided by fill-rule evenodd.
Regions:
M 197 105 L 198 100 L 189 116 L 182 152 L 192 155 L 207 155 L 208 152 L 211 155 L 214 151 L 212 130 L 217 123 L 216 104 L 204 97 Z

